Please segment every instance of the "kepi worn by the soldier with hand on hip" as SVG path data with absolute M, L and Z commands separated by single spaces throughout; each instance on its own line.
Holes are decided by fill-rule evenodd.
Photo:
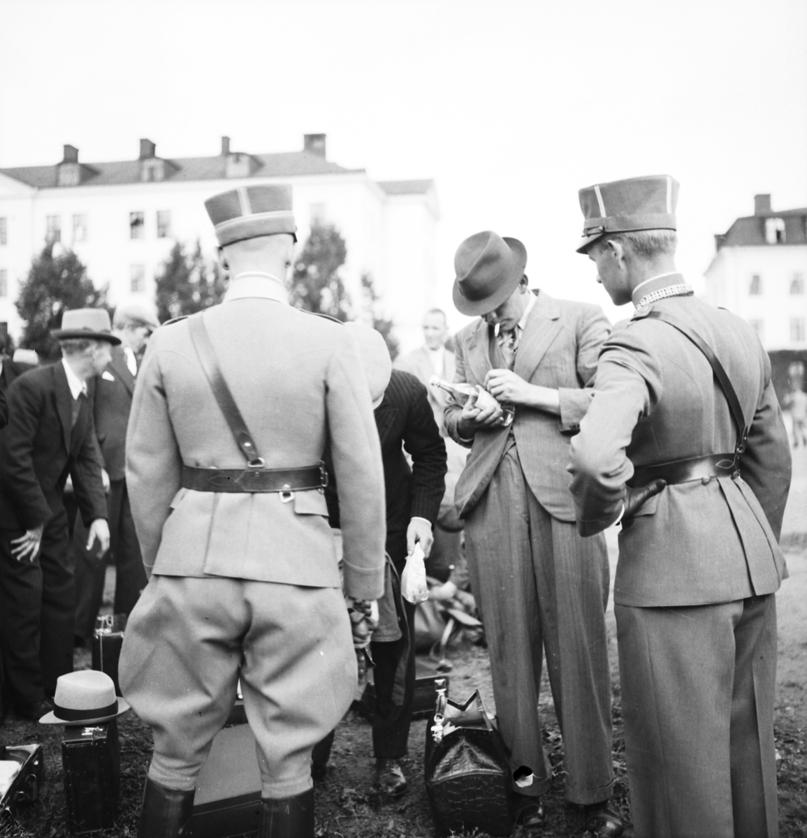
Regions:
M 583 241 L 578 253 L 585 253 L 607 233 L 633 233 L 637 230 L 675 230 L 678 181 L 669 174 L 612 180 L 580 190 L 583 210 Z

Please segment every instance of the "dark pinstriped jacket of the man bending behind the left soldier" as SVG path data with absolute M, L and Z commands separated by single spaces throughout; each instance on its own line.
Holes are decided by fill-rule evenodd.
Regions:
M 403 370 L 393 370 L 375 417 L 387 496 L 387 552 L 393 561 L 403 561 L 409 520 L 424 518 L 434 525 L 440 511 L 445 492 L 445 442 L 426 388 Z M 412 458 L 412 468 L 404 449 Z M 335 493 L 329 492 L 327 497 L 331 526 L 338 526 Z

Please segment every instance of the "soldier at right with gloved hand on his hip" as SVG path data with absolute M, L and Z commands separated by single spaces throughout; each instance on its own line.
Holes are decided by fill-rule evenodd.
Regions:
M 638 838 L 778 835 L 774 592 L 790 453 L 753 329 L 675 270 L 678 184 L 581 189 L 578 251 L 626 328 L 571 443 L 581 535 L 620 521 L 614 587 Z

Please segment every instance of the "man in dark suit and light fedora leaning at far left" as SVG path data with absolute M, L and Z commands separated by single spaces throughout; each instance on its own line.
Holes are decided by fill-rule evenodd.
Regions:
M 26 718 L 50 709 L 56 679 L 73 669 L 68 474 L 88 528 L 87 549 L 109 546 L 86 382 L 120 340 L 107 312 L 96 308 L 66 311 L 53 334 L 62 360 L 13 381 L 6 394 L 10 421 L 0 435 L 0 643 L 9 696 Z

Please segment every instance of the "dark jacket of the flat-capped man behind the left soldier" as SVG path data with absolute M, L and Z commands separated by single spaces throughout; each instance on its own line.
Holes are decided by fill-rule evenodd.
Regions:
M 112 347 L 112 360 L 92 386 L 96 436 L 110 480 L 126 477 L 126 429 L 132 410 L 134 376 L 121 346 Z

